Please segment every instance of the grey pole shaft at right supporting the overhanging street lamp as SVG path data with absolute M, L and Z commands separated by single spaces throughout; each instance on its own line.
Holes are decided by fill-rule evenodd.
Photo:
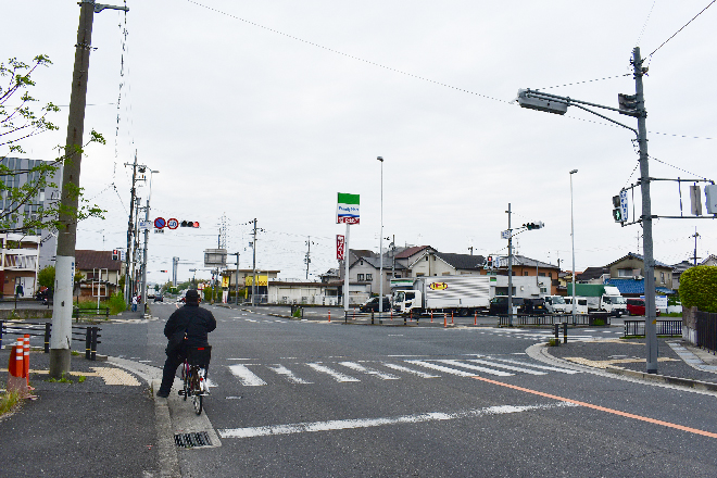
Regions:
M 657 373 L 657 316 L 655 306 L 655 260 L 652 250 L 652 204 L 650 202 L 650 168 L 647 165 L 647 127 L 645 98 L 642 89 L 642 67 L 640 47 L 632 50 L 634 68 L 634 92 L 638 111 L 638 144 L 640 146 L 640 190 L 642 192 L 642 247 L 644 249 L 644 292 L 645 292 L 645 341 L 647 374 Z

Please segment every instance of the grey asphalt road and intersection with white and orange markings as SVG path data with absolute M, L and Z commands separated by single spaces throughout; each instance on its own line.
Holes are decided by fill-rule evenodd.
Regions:
M 104 326 L 102 353 L 161 367 L 174 307 Z M 210 310 L 221 446 L 179 450 L 183 476 L 717 476 L 714 394 L 546 365 L 526 350 L 548 330 Z

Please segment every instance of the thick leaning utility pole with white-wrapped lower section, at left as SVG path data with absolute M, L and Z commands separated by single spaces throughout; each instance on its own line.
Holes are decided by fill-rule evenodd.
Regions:
M 83 135 L 85 133 L 85 105 L 89 56 L 92 49 L 92 21 L 95 12 L 105 8 L 128 11 L 126 7 L 96 5 L 95 0 L 79 2 L 79 25 L 75 43 L 75 66 L 70 95 L 70 114 L 65 141 L 65 162 L 62 175 L 62 194 L 58 219 L 58 249 L 55 254 L 55 287 L 52 307 L 52 337 L 50 339 L 50 377 L 62 378 L 70 372 L 72 338 L 72 292 L 75 278 L 75 244 L 79 173 L 81 169 Z

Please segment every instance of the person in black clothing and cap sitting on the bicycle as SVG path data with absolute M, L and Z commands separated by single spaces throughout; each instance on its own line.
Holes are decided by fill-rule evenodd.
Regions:
M 177 367 L 185 361 L 187 349 L 189 347 L 207 347 L 206 336 L 216 328 L 214 315 L 199 306 L 200 298 L 197 290 L 188 290 L 185 300 L 185 305 L 177 309 L 164 326 L 164 336 L 169 343 L 165 350 L 167 360 L 164 362 L 162 385 L 156 392 L 156 397 L 163 399 L 169 397 Z M 184 337 L 177 339 L 178 336 L 183 336 L 183 331 Z M 180 340 L 178 345 L 176 345 L 177 340 Z

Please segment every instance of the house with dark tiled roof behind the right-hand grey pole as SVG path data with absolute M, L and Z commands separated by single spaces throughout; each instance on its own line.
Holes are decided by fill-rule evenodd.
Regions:
M 644 257 L 629 252 L 627 255 L 606 265 L 609 268 L 609 284 L 618 288 L 622 295 L 639 297 L 644 294 Z M 655 261 L 655 291 L 672 293 L 672 266 Z

